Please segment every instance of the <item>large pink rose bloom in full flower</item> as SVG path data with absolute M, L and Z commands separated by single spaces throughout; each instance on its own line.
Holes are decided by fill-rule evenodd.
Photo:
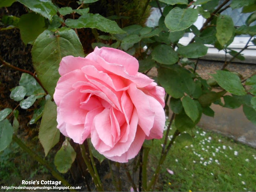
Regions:
M 54 93 L 60 132 L 79 144 L 90 137 L 99 153 L 120 163 L 134 158 L 145 139 L 162 138 L 164 88 L 138 67 L 131 55 L 107 47 L 64 57 Z

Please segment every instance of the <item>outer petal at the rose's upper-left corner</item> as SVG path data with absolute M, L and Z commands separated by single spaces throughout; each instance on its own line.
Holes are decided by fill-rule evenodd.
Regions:
M 73 57 L 71 55 L 63 57 L 60 61 L 59 73 L 61 76 L 67 74 L 76 69 L 82 69 L 82 67 L 86 65 L 94 65 L 95 67 L 99 67 L 98 63 L 91 61 L 89 59 L 83 57 Z

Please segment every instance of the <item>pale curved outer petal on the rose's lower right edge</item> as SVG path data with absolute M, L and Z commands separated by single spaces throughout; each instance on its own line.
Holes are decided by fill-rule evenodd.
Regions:
M 155 112 L 154 124 L 150 130 L 150 134 L 146 139 L 161 139 L 163 137 L 164 125 L 165 125 L 165 113 L 162 105 L 153 97 L 147 96 L 150 104 L 150 108 Z

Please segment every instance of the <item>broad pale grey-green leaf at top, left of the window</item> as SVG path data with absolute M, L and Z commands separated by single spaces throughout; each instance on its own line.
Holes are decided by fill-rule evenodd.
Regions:
M 188 8 L 173 8 L 166 16 L 164 23 L 170 31 L 181 31 L 187 29 L 196 22 L 198 11 Z

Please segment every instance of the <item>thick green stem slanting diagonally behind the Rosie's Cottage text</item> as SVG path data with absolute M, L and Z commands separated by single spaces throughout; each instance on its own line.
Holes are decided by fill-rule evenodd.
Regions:
M 56 170 L 54 170 L 54 168 L 52 168 L 47 161 L 42 159 L 31 149 L 29 149 L 15 134 L 12 136 L 12 139 L 20 146 L 20 148 L 22 148 L 24 151 L 26 151 L 34 160 L 38 161 L 39 163 L 44 165 L 44 167 L 46 167 L 48 170 L 50 170 L 52 176 L 54 176 L 57 180 L 61 181 L 61 183 L 64 184 L 65 186 L 71 187 L 71 185 L 68 183 L 68 181 L 62 177 L 62 175 L 60 175 Z M 69 189 L 69 190 L 76 191 L 76 190 L 72 190 L 72 189 Z

